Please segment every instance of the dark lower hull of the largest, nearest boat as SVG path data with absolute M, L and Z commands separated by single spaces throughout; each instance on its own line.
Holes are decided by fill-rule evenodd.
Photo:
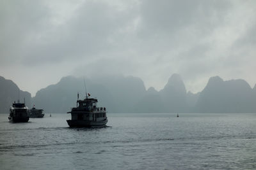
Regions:
M 69 127 L 104 127 L 108 123 L 108 119 L 99 122 L 87 120 L 67 120 Z

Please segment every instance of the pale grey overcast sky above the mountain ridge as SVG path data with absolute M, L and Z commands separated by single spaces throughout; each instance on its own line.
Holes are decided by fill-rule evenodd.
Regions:
M 0 76 L 35 96 L 67 75 L 138 76 L 186 89 L 256 83 L 256 1 L 0 1 Z

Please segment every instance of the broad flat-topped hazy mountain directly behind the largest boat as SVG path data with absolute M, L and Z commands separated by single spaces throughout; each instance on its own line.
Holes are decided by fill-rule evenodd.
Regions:
M 134 105 L 145 93 L 144 83 L 132 76 L 112 76 L 86 79 L 87 92 L 97 97 L 99 105 L 111 113 L 134 113 Z M 77 92 L 85 97 L 83 78 L 67 76 L 56 85 L 36 92 L 33 103 L 51 113 L 66 113 L 76 106 Z

